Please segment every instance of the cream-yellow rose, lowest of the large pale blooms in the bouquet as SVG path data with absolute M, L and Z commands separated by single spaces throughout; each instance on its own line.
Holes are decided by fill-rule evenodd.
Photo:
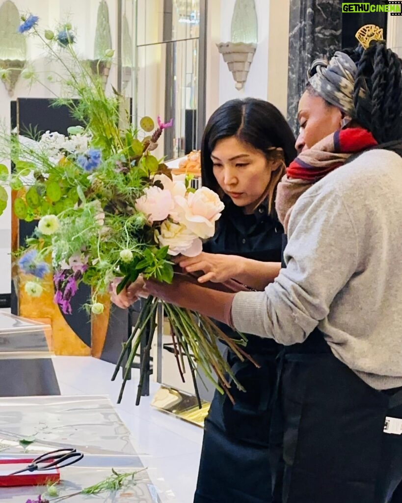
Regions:
M 202 241 L 185 225 L 165 220 L 159 231 L 155 231 L 155 239 L 161 246 L 169 246 L 170 255 L 185 255 L 195 257 L 203 251 Z

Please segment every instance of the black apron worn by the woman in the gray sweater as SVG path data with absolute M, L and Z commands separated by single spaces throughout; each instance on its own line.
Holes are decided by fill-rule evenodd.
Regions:
M 402 388 L 378 391 L 315 329 L 283 348 L 271 423 L 275 503 L 402 503 Z M 392 494 L 394 493 L 394 497 Z

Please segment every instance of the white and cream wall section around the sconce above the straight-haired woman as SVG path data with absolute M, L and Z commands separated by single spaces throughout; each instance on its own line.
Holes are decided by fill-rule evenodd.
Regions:
M 290 0 L 255 0 L 258 45 L 247 82 L 241 91 L 217 43 L 230 41 L 235 0 L 208 2 L 207 25 L 207 119 L 223 103 L 235 98 L 268 100 L 286 116 L 288 34 Z

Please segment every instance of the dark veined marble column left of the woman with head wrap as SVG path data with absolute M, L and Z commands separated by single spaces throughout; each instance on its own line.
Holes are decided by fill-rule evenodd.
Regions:
M 341 47 L 340 0 L 290 0 L 287 119 L 296 134 L 297 104 L 311 62 Z

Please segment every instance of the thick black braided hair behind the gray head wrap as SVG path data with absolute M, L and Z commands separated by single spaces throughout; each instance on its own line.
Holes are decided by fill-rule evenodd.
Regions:
M 346 52 L 346 51 L 343 51 Z M 384 41 L 347 54 L 357 65 L 353 101 L 356 121 L 378 143 L 402 139 L 402 64 Z M 366 96 L 362 97 L 360 91 Z

